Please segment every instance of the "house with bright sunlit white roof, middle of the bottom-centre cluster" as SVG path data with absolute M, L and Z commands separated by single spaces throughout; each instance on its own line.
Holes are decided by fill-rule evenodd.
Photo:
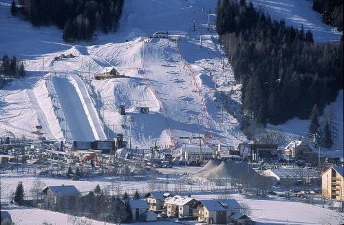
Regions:
M 167 216 L 179 218 L 193 216 L 197 202 L 193 197 L 171 197 L 166 201 Z

